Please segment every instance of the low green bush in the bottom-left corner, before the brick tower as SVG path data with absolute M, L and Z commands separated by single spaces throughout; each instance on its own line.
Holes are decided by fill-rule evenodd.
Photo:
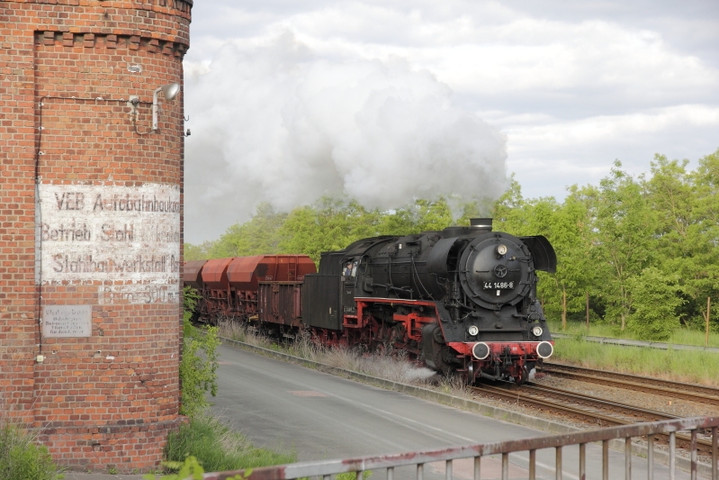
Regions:
M 47 447 L 36 445 L 30 433 L 0 419 L 0 478 L 54 480 L 62 475 Z

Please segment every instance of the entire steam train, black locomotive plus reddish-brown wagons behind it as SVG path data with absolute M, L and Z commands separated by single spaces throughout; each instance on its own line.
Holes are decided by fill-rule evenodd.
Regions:
M 357 240 L 322 253 L 317 272 L 301 255 L 187 262 L 184 282 L 202 294 L 203 322 L 227 316 L 284 337 L 307 328 L 326 345 L 404 350 L 470 384 L 521 385 L 553 354 L 535 272 L 557 260 L 543 236 L 491 223 Z

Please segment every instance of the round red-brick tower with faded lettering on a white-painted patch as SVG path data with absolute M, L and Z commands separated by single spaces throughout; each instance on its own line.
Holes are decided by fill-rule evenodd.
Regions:
M 179 421 L 191 7 L 0 2 L 0 415 L 62 466 L 157 466 Z

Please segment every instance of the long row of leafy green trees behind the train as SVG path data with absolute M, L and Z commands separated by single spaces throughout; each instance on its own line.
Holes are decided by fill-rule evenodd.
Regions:
M 538 294 L 549 318 L 606 322 L 647 340 L 680 325 L 702 329 L 707 298 L 719 293 L 719 149 L 688 160 L 656 155 L 650 172 L 629 175 L 619 161 L 598 186 L 570 186 L 562 202 L 525 198 L 512 177 L 494 203 L 419 199 L 397 210 L 370 210 L 351 199 L 322 198 L 290 213 L 260 204 L 253 217 L 185 259 L 343 249 L 375 235 L 442 230 L 490 214 L 494 228 L 544 235 L 557 252 L 555 274 L 540 272 Z M 719 330 L 719 322 L 713 322 Z

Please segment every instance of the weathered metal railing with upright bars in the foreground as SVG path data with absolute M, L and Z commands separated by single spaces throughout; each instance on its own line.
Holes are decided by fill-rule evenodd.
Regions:
M 609 476 L 609 442 L 611 440 L 625 440 L 625 479 L 632 478 L 632 440 L 646 440 L 646 476 L 648 480 L 654 478 L 654 436 L 658 434 L 669 435 L 669 478 L 676 478 L 676 433 L 678 431 L 689 431 L 691 434 L 690 460 L 688 462 L 690 478 L 697 478 L 697 435 L 702 432 L 711 431 L 712 453 L 711 466 L 707 468 L 706 474 L 711 472 L 712 480 L 717 479 L 717 427 L 719 417 L 699 417 L 669 421 L 652 421 L 646 423 L 635 423 L 621 427 L 612 427 L 600 430 L 588 430 L 565 435 L 554 435 L 539 437 L 535 439 L 508 440 L 465 447 L 444 448 L 433 451 L 420 451 L 400 453 L 394 455 L 382 455 L 378 457 L 358 457 L 341 460 L 326 460 L 314 462 L 301 462 L 283 466 L 266 466 L 253 470 L 238 470 L 233 472 L 205 474 L 204 480 L 225 480 L 237 478 L 240 475 L 246 480 L 291 480 L 295 478 L 321 477 L 322 480 L 330 480 L 332 475 L 352 472 L 356 480 L 363 480 L 365 471 L 384 470 L 387 480 L 394 480 L 396 467 L 416 466 L 416 479 L 424 480 L 425 464 L 435 462 L 445 463 L 445 479 L 452 480 L 453 461 L 463 458 L 473 459 L 474 480 L 481 479 L 482 459 L 489 456 L 501 456 L 501 478 L 509 478 L 509 454 L 517 452 L 528 452 L 528 466 L 526 477 L 535 480 L 537 475 L 537 450 L 554 448 L 554 478 L 562 480 L 564 469 L 562 467 L 562 449 L 569 446 L 579 446 L 578 477 L 584 480 L 587 476 L 587 445 L 600 442 L 601 445 L 601 474 L 604 480 Z M 546 464 L 542 464 L 545 468 Z M 494 475 L 493 475 L 494 476 Z M 517 477 L 517 475 L 512 475 Z M 570 476 L 570 475 L 567 475 Z M 572 477 L 574 475 L 571 475 Z M 546 476 L 545 476 L 546 477 Z M 619 476 L 612 475 L 612 478 Z

